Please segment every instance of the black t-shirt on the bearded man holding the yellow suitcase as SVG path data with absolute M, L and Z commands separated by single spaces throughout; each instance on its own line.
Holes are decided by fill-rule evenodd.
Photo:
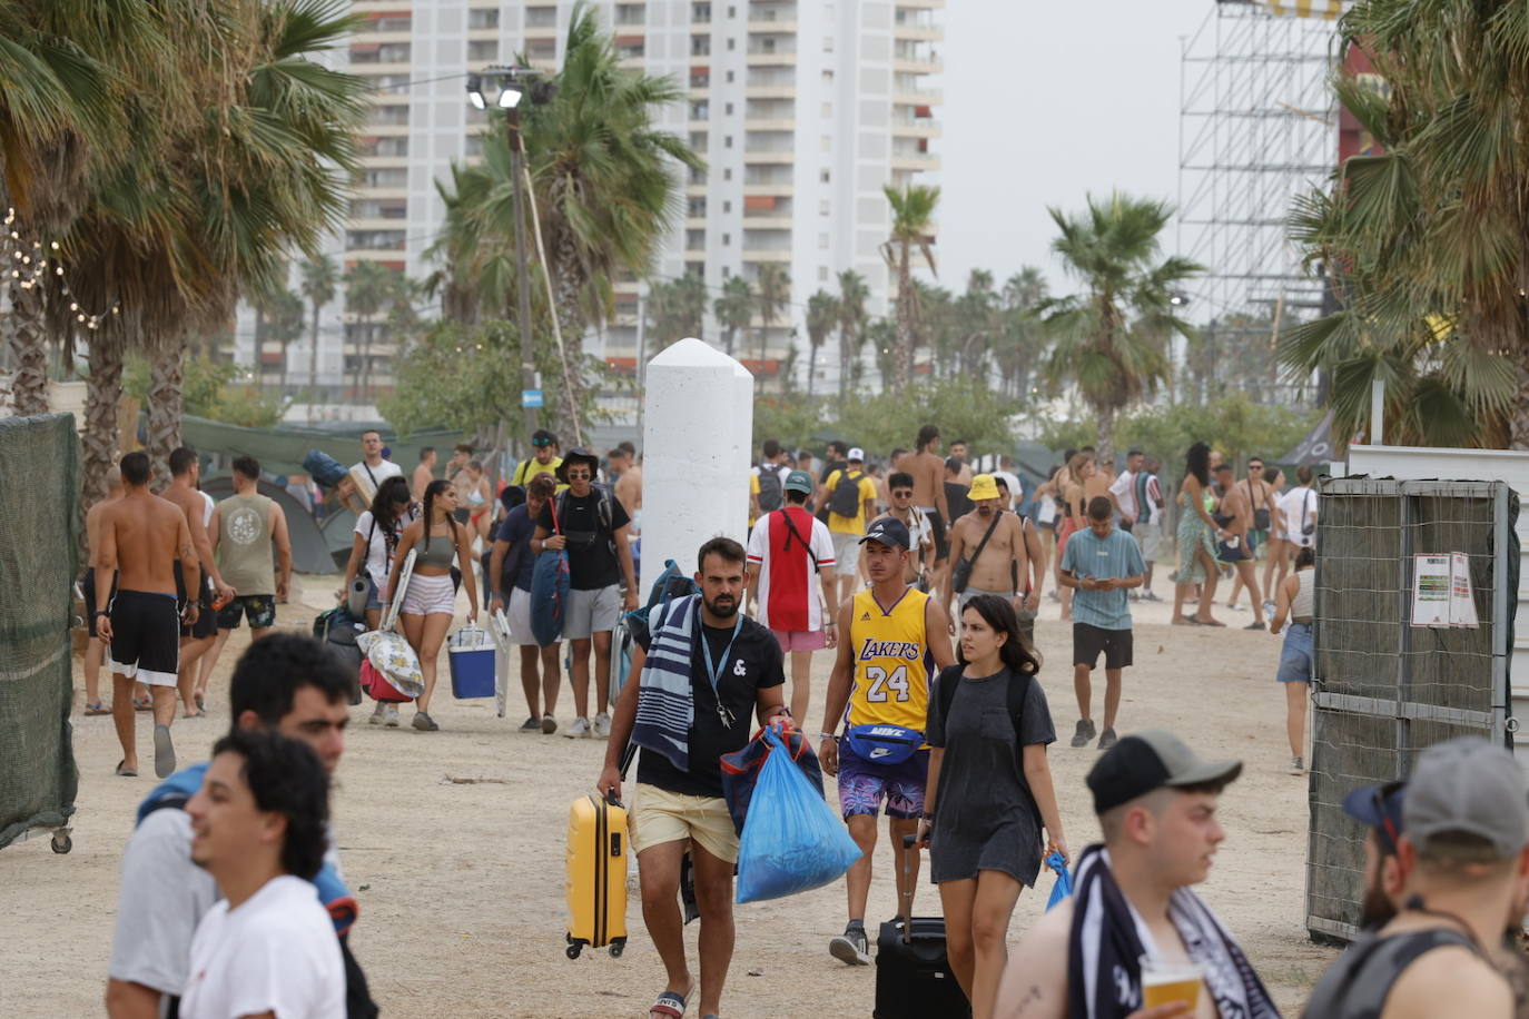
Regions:
M 717 655 L 732 637 L 732 628 L 700 629 L 705 642 L 711 645 L 711 660 L 717 662 Z M 631 636 L 645 651 L 648 632 L 635 626 Z M 722 767 L 717 758 L 748 746 L 758 724 L 757 692 L 786 681 L 784 657 L 780 652 L 780 642 L 769 629 L 752 619 L 743 619 L 732 651 L 728 652 L 726 662 L 717 666 L 717 694 L 722 695 L 723 707 L 732 713 L 732 724 L 723 727 L 717 717 L 717 697 L 711 692 L 700 643 L 696 642 L 696 652 L 690 658 L 690 689 L 696 698 L 696 718 L 690 724 L 690 772 L 680 772 L 662 753 L 644 750 L 638 759 L 638 781 L 685 796 L 720 797 Z

